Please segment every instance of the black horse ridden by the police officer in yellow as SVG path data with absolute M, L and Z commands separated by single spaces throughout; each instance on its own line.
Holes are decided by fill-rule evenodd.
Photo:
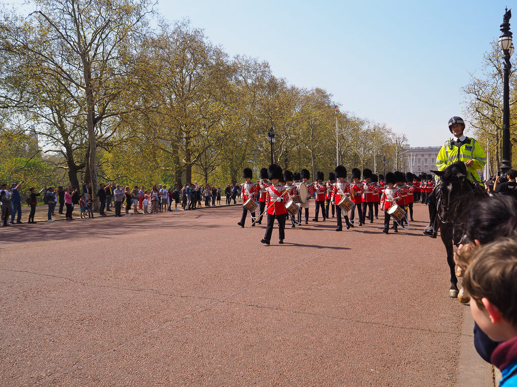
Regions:
M 449 297 L 458 297 L 458 278 L 454 264 L 454 245 L 462 242 L 464 225 L 461 223 L 467 208 L 476 205 L 477 200 L 488 197 L 486 191 L 478 188 L 467 179 L 467 167 L 463 162 L 455 162 L 443 171 L 431 171 L 440 176 L 436 187 L 437 227 L 447 252 L 447 264 L 451 272 Z

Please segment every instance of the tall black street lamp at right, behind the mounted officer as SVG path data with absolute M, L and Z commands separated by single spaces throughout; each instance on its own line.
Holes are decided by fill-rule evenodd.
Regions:
M 501 24 L 501 36 L 497 44 L 503 50 L 503 59 L 505 60 L 503 74 L 503 158 L 501 159 L 501 172 L 506 173 L 512 167 L 511 151 L 510 151 L 510 57 L 513 54 L 512 33 L 510 32 L 511 10 L 505 8 L 506 12 Z

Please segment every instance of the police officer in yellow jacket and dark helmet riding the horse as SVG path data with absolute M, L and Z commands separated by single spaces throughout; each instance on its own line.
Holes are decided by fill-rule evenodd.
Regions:
M 486 155 L 479 142 L 474 138 L 466 137 L 465 121 L 461 117 L 454 116 L 449 120 L 449 131 L 453 138 L 446 141 L 442 149 L 440 149 L 436 157 L 436 166 L 438 170 L 443 171 L 454 162 L 461 161 L 467 167 L 467 179 L 482 188 L 481 179 L 479 178 L 478 169 L 482 169 L 486 164 Z M 436 195 L 437 189 L 429 195 L 429 227 L 425 228 L 424 235 L 436 238 L 438 232 L 436 225 Z

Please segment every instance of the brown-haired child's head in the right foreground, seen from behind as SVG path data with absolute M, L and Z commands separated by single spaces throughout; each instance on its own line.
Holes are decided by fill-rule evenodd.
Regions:
M 494 341 L 517 335 L 517 242 L 504 238 L 484 246 L 465 271 L 470 311 Z

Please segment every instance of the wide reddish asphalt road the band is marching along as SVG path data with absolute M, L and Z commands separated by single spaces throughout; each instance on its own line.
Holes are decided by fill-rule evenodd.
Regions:
M 453 385 L 467 308 L 415 207 L 271 246 L 240 207 L 4 228 L 0 385 Z

